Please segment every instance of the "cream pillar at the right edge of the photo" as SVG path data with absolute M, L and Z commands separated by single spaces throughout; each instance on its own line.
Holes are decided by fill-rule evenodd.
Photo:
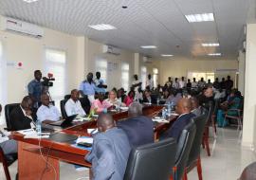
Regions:
M 256 24 L 247 25 L 246 83 L 242 145 L 256 149 Z

